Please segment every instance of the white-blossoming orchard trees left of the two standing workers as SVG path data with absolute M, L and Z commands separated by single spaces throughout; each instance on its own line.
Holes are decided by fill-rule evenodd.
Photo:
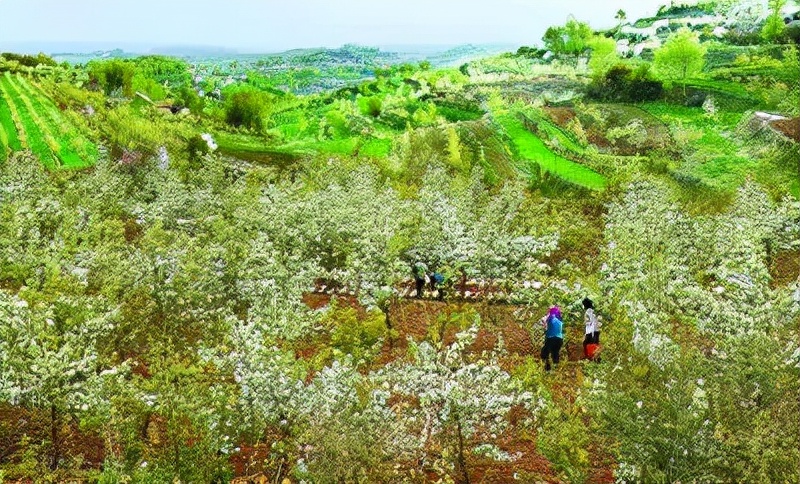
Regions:
M 109 479 L 228 478 L 237 447 L 265 442 L 284 475 L 376 479 L 395 472 L 387 462 L 401 476 L 466 473 L 470 446 L 494 449 L 491 429 L 476 437 L 484 417 L 503 426 L 511 406 L 536 405 L 465 351 L 474 329 L 366 374 L 369 348 L 297 354 L 335 317 L 302 302 L 320 276 L 385 310 L 412 257 L 476 275 L 541 271 L 536 254 L 556 238 L 514 224 L 523 192 L 512 185 L 492 193 L 477 173 L 432 169 L 401 195 L 367 167 L 293 183 L 211 158 L 188 180 L 156 162 L 46 173 L 22 155 L 0 176 L 0 396 L 49 429 L 35 442 L 4 433 L 9 478 L 96 466 L 75 454 L 81 433 L 102 440 Z

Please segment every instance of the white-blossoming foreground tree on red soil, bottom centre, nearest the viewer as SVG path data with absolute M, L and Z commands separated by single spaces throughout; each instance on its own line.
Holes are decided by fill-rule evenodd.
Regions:
M 396 402 L 395 419 L 413 436 L 406 459 L 422 467 L 455 471 L 469 482 L 466 457 L 491 444 L 492 435 L 508 425 L 515 405 L 533 409 L 532 395 L 520 390 L 500 368 L 496 354 L 470 355 L 478 325 L 458 333 L 450 345 L 409 342 L 410 361 L 396 361 L 371 375 L 372 381 Z M 434 448 L 441 449 L 437 462 Z M 508 457 L 501 451 L 493 454 Z

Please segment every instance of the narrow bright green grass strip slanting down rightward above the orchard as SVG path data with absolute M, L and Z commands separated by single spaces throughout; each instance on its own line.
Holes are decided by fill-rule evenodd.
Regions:
M 517 153 L 523 160 L 535 163 L 543 171 L 552 173 L 575 185 L 590 190 L 606 188 L 608 182 L 603 175 L 553 152 L 539 137 L 528 131 L 522 121 L 512 115 L 499 116 L 497 121 L 511 137 Z

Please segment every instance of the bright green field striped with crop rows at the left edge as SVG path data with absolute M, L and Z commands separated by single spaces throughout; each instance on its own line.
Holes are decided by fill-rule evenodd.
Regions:
M 98 156 L 97 147 L 41 88 L 7 72 L 0 76 L 0 161 L 24 149 L 51 169 L 85 168 Z

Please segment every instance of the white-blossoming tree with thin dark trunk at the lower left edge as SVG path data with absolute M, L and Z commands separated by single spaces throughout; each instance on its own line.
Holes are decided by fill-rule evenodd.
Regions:
M 65 417 L 103 415 L 120 384 L 125 365 L 104 363 L 95 349 L 113 325 L 113 312 L 88 300 L 29 307 L 0 290 L 0 400 L 49 413 L 51 470 L 63 456 Z

